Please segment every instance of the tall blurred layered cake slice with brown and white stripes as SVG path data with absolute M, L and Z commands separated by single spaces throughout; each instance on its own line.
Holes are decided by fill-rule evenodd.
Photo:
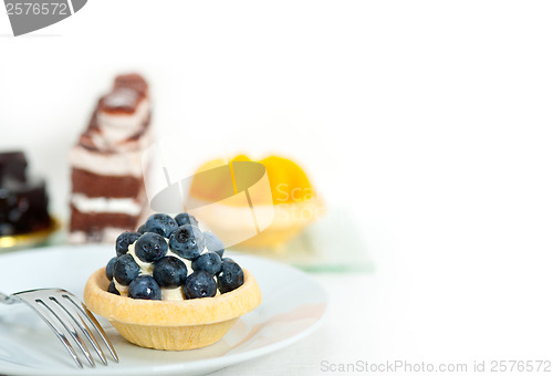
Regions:
M 113 242 L 135 230 L 146 210 L 143 152 L 152 143 L 148 84 L 115 79 L 71 149 L 70 242 Z

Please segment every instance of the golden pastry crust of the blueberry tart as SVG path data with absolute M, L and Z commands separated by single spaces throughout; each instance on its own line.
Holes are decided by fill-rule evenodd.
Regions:
M 241 315 L 261 303 L 255 279 L 247 270 L 243 273 L 240 288 L 215 297 L 147 301 L 108 293 L 102 268 L 86 282 L 84 302 L 134 344 L 157 349 L 199 348 L 219 341 Z

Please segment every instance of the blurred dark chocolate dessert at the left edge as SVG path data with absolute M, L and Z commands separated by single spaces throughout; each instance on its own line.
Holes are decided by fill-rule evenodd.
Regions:
M 0 153 L 0 237 L 50 228 L 46 184 L 28 177 L 23 152 Z

